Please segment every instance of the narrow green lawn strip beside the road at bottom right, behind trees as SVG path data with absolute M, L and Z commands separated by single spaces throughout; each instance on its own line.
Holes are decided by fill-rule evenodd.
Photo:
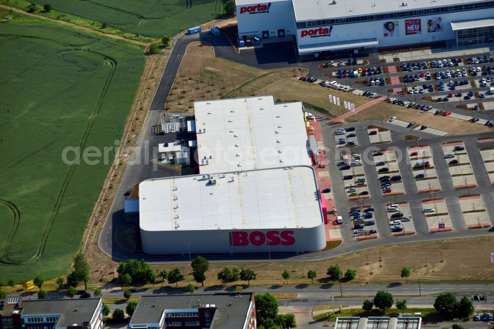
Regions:
M 405 313 L 421 313 L 422 314 L 422 321 L 426 322 L 441 322 L 441 321 L 452 321 L 453 319 L 446 319 L 443 316 L 441 316 L 439 313 L 436 312 L 434 308 L 408 308 L 405 310 Z M 378 309 L 372 309 L 371 312 L 364 311 L 361 308 L 355 308 L 355 309 L 343 309 L 341 310 L 341 313 L 339 312 L 339 309 L 336 308 L 335 314 L 333 317 L 332 310 L 328 310 L 326 313 L 321 313 L 318 314 L 314 317 L 314 320 L 317 321 L 334 321 L 336 320 L 337 317 L 397 317 L 401 313 L 401 310 L 397 308 L 391 308 L 386 310 L 385 313 L 383 313 L 381 310 Z M 464 319 L 460 319 L 460 321 L 463 321 Z

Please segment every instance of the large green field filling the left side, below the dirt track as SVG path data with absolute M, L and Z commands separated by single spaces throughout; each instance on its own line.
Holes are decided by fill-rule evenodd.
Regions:
M 124 41 L 9 14 L 14 18 L 0 22 L 0 279 L 20 282 L 53 278 L 70 266 L 122 138 L 145 57 Z M 106 163 L 97 157 L 90 165 L 82 158 L 64 163 L 67 147 L 81 154 L 112 148 Z

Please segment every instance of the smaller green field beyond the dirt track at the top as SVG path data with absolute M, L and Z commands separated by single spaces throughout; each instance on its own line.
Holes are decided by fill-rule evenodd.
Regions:
M 27 8 L 31 2 L 42 6 L 50 3 L 56 11 L 53 14 L 43 13 L 53 18 L 68 20 L 87 26 L 87 19 L 98 22 L 97 28 L 106 22 L 109 28 L 117 28 L 132 34 L 159 38 L 163 35 L 174 35 L 216 18 L 222 13 L 223 7 L 219 0 L 1 0 L 0 2 Z M 64 17 L 63 13 L 74 15 Z M 113 33 L 113 32 L 111 32 Z

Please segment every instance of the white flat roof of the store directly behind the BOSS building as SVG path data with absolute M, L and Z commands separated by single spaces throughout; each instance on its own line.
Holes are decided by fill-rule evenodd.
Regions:
M 195 102 L 201 173 L 311 165 L 302 102 L 274 96 Z

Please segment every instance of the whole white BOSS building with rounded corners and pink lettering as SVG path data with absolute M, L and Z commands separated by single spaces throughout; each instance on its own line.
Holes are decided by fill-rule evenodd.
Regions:
M 314 168 L 148 179 L 139 185 L 148 254 L 303 252 L 326 246 Z

